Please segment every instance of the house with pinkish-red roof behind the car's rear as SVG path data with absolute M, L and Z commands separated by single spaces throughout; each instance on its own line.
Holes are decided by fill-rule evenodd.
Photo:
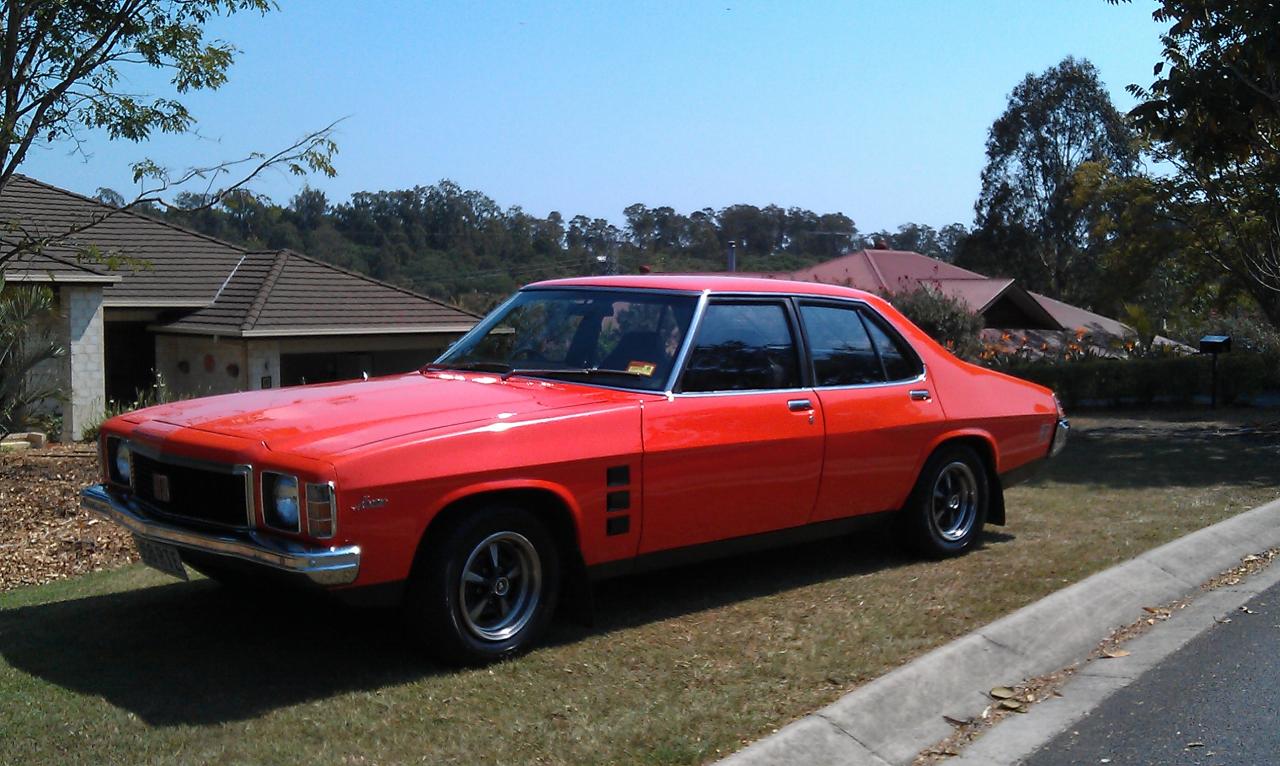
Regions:
M 906 250 L 873 247 L 796 272 L 754 275 L 845 284 L 881 295 L 929 286 L 980 314 L 988 337 L 1018 333 L 1037 347 L 1043 342 L 1059 345 L 1076 334 L 1089 336 L 1100 347 L 1137 336 L 1121 322 L 1024 289 L 1014 279 L 984 277 Z

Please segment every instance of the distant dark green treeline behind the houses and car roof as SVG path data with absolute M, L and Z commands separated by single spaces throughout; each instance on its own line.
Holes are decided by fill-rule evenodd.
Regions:
M 118 193 L 99 199 L 120 204 Z M 685 214 L 635 204 L 621 224 L 500 208 L 451 181 L 358 192 L 342 202 L 303 190 L 288 205 L 239 190 L 218 204 L 179 195 L 148 214 L 246 247 L 289 247 L 426 295 L 486 309 L 535 279 L 602 273 L 723 270 L 735 242 L 740 270 L 791 270 L 883 240 L 952 260 L 965 227 L 905 224 L 863 234 L 842 213 L 731 205 Z

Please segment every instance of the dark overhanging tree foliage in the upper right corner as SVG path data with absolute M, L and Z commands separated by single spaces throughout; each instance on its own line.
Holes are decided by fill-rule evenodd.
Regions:
M 1158 181 L 1167 216 L 1280 327 L 1280 5 L 1160 0 L 1152 15 L 1164 60 L 1129 86 L 1130 115 L 1176 170 Z

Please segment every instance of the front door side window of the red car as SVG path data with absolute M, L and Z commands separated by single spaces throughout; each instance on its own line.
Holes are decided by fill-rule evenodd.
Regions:
M 800 387 L 791 322 L 782 304 L 707 306 L 681 391 L 768 391 Z

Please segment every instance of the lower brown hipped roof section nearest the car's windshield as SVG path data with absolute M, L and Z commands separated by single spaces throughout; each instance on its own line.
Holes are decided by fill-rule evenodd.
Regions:
M 466 332 L 477 316 L 292 250 L 246 252 L 209 306 L 157 332 L 237 337 Z

